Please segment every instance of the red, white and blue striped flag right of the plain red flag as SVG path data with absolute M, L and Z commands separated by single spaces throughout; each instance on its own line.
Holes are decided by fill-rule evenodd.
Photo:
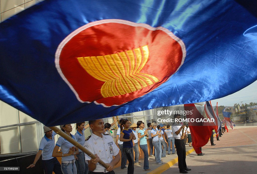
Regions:
M 204 105 L 204 111 L 206 116 L 209 119 L 214 119 L 214 124 L 215 124 L 215 132 L 216 134 L 218 134 L 219 129 L 221 127 L 221 121 L 219 120 L 219 117 L 217 116 L 217 114 L 214 112 L 214 109 L 212 107 L 212 104 L 210 101 L 206 101 L 205 105 Z

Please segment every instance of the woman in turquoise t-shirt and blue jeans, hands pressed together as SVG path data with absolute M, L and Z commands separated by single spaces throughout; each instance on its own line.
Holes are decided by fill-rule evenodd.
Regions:
M 147 130 L 144 129 L 144 123 L 142 121 L 138 121 L 136 123 L 138 130 L 137 137 L 140 138 L 140 148 L 144 152 L 144 170 L 149 171 L 149 161 L 148 161 L 148 148 L 147 148 L 147 140 L 146 137 L 148 137 Z

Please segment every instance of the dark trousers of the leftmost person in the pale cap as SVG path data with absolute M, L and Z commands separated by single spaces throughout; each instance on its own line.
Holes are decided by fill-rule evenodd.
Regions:
M 45 174 L 62 174 L 61 165 L 56 157 L 50 160 L 42 160 L 42 166 L 45 171 Z

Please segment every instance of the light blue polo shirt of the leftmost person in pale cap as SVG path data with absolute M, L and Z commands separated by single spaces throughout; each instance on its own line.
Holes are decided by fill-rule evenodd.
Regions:
M 55 147 L 55 141 L 54 141 L 54 136 L 56 133 L 53 131 L 52 133 L 52 139 L 48 139 L 46 136 L 44 136 L 39 144 L 39 150 L 42 150 L 42 160 L 50 160 L 52 159 L 52 153 L 53 149 Z

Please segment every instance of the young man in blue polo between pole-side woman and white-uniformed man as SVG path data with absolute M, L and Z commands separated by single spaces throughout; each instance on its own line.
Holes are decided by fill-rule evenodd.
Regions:
M 85 128 L 85 122 L 76 123 L 77 132 L 75 133 L 75 137 L 81 146 L 84 146 L 84 143 L 85 143 L 84 128 Z M 77 166 L 78 173 L 87 174 L 88 164 L 86 164 L 85 162 L 84 152 L 82 152 L 82 150 L 80 149 L 79 149 L 79 154 L 77 155 L 77 158 L 78 159 L 76 160 L 76 166 Z

